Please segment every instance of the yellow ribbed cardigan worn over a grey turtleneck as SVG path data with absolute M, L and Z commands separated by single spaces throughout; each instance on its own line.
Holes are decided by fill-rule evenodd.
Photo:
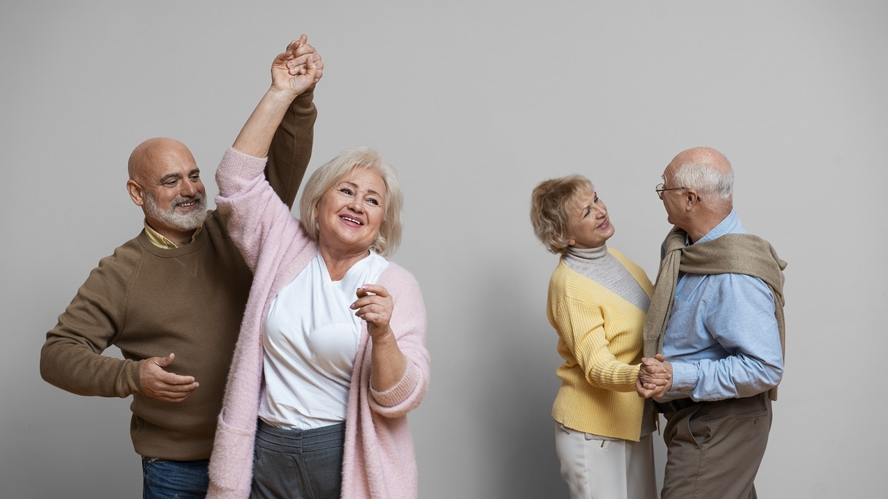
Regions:
M 650 297 L 654 286 L 645 271 L 616 249 L 608 251 Z M 645 312 L 560 261 L 549 281 L 547 314 L 565 360 L 552 417 L 579 432 L 638 441 L 644 399 L 635 380 Z

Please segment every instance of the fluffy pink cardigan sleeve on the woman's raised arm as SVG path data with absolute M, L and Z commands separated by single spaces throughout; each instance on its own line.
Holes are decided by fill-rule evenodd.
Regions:
M 254 273 L 264 251 L 269 252 L 266 260 L 273 260 L 277 252 L 299 250 L 308 243 L 298 220 L 266 180 L 265 163 L 264 158 L 229 148 L 216 170 L 218 211 Z

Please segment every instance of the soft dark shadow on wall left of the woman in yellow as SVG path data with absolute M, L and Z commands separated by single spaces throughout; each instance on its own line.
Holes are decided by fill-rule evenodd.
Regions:
M 473 311 L 479 317 L 490 364 L 498 372 L 489 383 L 486 407 L 481 411 L 487 439 L 496 463 L 488 463 L 489 482 L 499 488 L 496 497 L 513 499 L 567 497 L 555 455 L 551 404 L 558 391 L 555 369 L 560 365 L 557 336 L 545 315 L 546 288 L 551 269 L 522 270 L 498 260 L 489 265 L 488 299 Z M 540 271 L 542 273 L 538 273 Z

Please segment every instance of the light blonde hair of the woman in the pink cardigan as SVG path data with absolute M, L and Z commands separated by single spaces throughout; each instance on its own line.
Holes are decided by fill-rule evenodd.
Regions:
M 326 162 L 321 168 L 314 170 L 312 176 L 308 178 L 302 198 L 299 200 L 299 218 L 302 228 L 314 242 L 318 241 L 318 224 L 315 217 L 318 202 L 327 191 L 341 182 L 351 171 L 358 168 L 377 172 L 385 183 L 383 223 L 379 226 L 379 234 L 377 234 L 376 241 L 370 245 L 370 249 L 383 257 L 389 257 L 400 244 L 400 213 L 404 206 L 404 197 L 400 192 L 400 184 L 395 170 L 383 160 L 382 154 L 370 147 L 361 146 L 347 149 Z

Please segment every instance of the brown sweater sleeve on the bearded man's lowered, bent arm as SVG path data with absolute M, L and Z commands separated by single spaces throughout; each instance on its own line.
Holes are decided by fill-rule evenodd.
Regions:
M 123 328 L 131 275 L 118 254 L 103 258 L 78 289 L 40 351 L 40 375 L 78 395 L 127 397 L 140 392 L 139 361 L 102 355 Z M 135 265 L 132 265 L 135 268 Z

